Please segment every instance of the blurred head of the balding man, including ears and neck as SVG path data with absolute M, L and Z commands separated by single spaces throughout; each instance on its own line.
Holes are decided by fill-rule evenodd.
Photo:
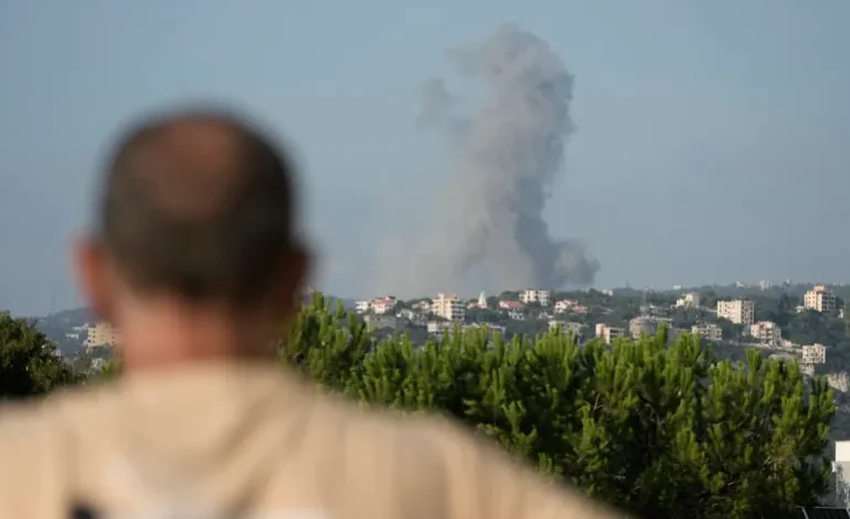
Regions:
M 256 353 L 268 342 L 307 268 L 293 177 L 283 151 L 221 112 L 129 129 L 106 165 L 95 231 L 76 248 L 83 288 L 119 327 L 125 357 L 156 363 L 155 352 L 132 351 L 156 341 L 217 345 L 187 345 L 210 350 L 187 358 Z

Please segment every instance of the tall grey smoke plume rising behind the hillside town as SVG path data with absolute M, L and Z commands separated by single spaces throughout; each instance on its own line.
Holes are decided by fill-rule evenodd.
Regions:
M 516 25 L 447 57 L 461 76 L 484 83 L 485 97 L 465 114 L 443 80 L 422 89 L 418 124 L 444 134 L 456 161 L 450 194 L 414 250 L 408 288 L 459 289 L 476 269 L 490 289 L 591 284 L 599 263 L 581 241 L 553 240 L 543 220 L 574 129 L 573 76 L 545 41 Z

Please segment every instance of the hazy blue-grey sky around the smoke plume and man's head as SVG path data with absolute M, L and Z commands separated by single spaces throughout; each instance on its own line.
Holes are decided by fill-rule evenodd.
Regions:
M 78 304 L 66 250 L 104 145 L 198 96 L 298 145 L 318 286 L 372 295 L 382 241 L 450 174 L 419 85 L 506 22 L 576 77 L 548 216 L 598 286 L 850 279 L 847 0 L 0 0 L 0 308 Z

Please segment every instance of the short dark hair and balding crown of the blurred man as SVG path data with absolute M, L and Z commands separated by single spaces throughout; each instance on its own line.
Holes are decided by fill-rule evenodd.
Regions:
M 138 290 L 249 306 L 298 246 L 293 173 L 285 156 L 230 114 L 159 115 L 119 141 L 97 237 Z

